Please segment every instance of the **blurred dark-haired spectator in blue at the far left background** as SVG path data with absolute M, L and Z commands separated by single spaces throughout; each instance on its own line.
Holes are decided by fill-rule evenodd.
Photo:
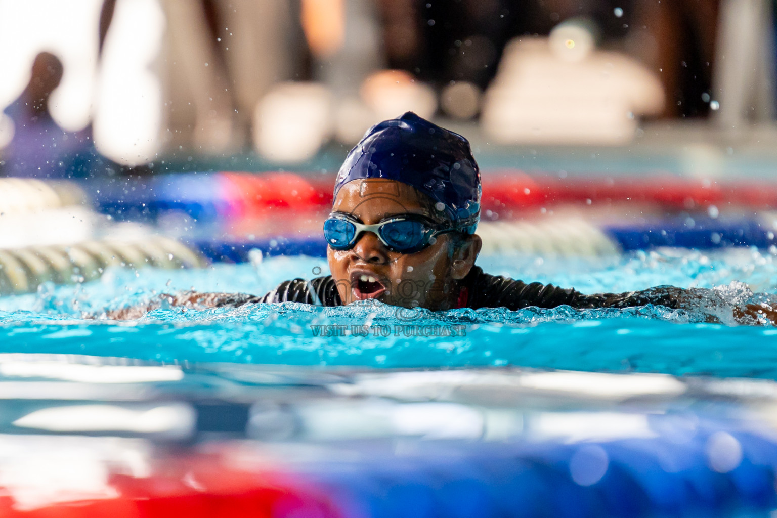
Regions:
M 49 112 L 49 98 L 62 73 L 59 58 L 41 52 L 35 57 L 32 77 L 22 95 L 5 109 L 12 123 L 12 138 L 0 160 L 5 176 L 89 176 L 93 155 L 90 131 L 63 130 Z

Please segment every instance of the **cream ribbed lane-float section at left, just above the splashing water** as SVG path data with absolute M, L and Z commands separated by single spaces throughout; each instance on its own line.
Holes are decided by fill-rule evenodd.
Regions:
M 199 252 L 161 236 L 0 249 L 0 295 L 31 293 L 47 282 L 96 280 L 109 267 L 179 269 L 206 264 Z

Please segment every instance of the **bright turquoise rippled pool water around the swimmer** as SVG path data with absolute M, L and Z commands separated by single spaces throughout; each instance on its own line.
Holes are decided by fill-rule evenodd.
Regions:
M 490 273 L 588 293 L 658 284 L 718 286 L 726 304 L 771 300 L 777 294 L 777 257 L 753 249 L 716 255 L 638 252 L 596 260 L 490 256 L 479 264 Z M 160 308 L 137 322 L 99 318 L 106 309 L 142 303 L 159 293 L 193 288 L 263 294 L 281 280 L 326 271 L 321 259 L 294 257 L 203 270 L 115 269 L 92 283 L 44 285 L 37 294 L 0 298 L 0 353 L 314 366 L 515 365 L 777 379 L 777 328 L 707 324 L 701 313 L 666 308 L 432 313 L 366 302 L 344 308 L 249 304 L 206 311 Z M 737 280 L 747 285 L 733 283 Z M 752 295 L 747 286 L 763 294 Z M 730 311 L 726 304 L 714 311 L 725 314 Z M 367 335 L 323 337 L 326 328 L 315 327 L 351 331 L 354 324 L 366 326 L 357 331 L 365 329 Z M 402 326 L 412 325 L 436 326 L 453 335 L 406 335 L 415 328 Z

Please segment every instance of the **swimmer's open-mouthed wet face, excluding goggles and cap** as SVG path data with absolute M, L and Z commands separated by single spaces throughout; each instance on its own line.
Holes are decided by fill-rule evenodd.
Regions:
M 337 193 L 332 211 L 363 224 L 413 214 L 442 221 L 427 196 L 411 186 L 386 179 L 360 179 Z M 414 253 L 389 250 L 373 232 L 364 231 L 353 248 L 329 247 L 329 269 L 343 304 L 375 298 L 405 308 L 443 310 L 455 307 L 457 280 L 475 264 L 480 250 L 476 235 L 438 235 L 433 244 Z

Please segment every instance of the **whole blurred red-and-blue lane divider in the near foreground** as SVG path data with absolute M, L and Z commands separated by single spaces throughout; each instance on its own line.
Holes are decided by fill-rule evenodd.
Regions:
M 159 457 L 148 468 L 141 464 L 143 471 L 135 468 L 139 473 L 127 459 L 145 461 L 145 451 L 115 440 L 99 455 L 71 460 L 75 467 L 110 474 L 100 488 L 105 494 L 78 492 L 81 486 L 72 482 L 57 487 L 62 477 L 42 471 L 60 489 L 57 498 L 37 509 L 19 509 L 13 497 L 24 496 L 19 488 L 35 485 L 29 472 L 23 478 L 12 465 L 5 484 L 16 486 L 5 490 L 0 513 L 7 518 L 771 516 L 777 505 L 773 434 L 759 435 L 761 429 L 740 423 L 697 425 L 688 414 L 656 415 L 650 420 L 664 430 L 649 429 L 653 436 L 609 441 L 282 443 L 289 461 L 271 453 L 271 442 L 216 443 L 208 454 L 180 448 L 177 456 L 155 447 Z M 74 443 L 50 440 L 62 447 Z M 126 458 L 114 460 L 121 447 Z M 56 461 L 37 462 L 42 470 L 62 472 Z

